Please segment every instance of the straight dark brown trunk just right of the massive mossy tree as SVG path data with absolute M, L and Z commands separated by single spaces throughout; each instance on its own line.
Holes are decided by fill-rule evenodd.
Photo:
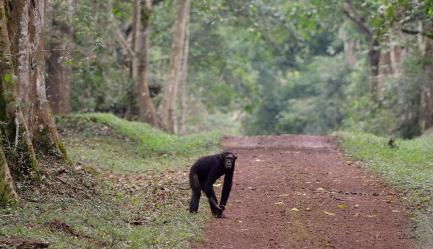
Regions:
M 46 60 L 46 95 L 51 112 L 56 115 L 68 114 L 70 108 L 72 65 L 67 62 L 72 54 L 68 45 L 74 35 L 72 19 L 75 15 L 75 0 L 67 1 L 64 5 L 67 18 L 49 19 L 49 27 L 45 29 L 45 33 L 49 34 L 46 39 L 46 49 L 49 50 Z

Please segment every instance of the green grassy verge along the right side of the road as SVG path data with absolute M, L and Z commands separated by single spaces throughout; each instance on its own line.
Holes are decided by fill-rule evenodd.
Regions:
M 371 134 L 337 132 L 341 147 L 365 169 L 402 192 L 402 200 L 415 214 L 420 244 L 433 247 L 433 135 L 395 139 Z

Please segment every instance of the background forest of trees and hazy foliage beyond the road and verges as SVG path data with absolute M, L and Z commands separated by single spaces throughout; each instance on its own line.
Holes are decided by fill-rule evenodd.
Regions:
M 111 112 L 181 134 L 412 138 L 432 121 L 432 10 L 428 0 L 49 0 L 47 98 L 54 114 Z

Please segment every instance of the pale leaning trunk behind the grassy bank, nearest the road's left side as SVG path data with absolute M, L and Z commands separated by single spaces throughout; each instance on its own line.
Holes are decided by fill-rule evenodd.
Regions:
M 186 9 L 189 4 L 191 4 L 191 0 L 179 1 L 179 8 L 176 12 L 174 22 L 173 41 L 171 45 L 172 51 L 167 81 L 165 84 L 165 93 L 158 108 L 160 125 L 162 128 L 173 134 L 178 133 L 176 120 L 176 96 L 185 41 Z

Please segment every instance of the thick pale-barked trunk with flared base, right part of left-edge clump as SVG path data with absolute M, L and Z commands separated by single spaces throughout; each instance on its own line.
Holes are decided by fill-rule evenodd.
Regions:
M 12 62 L 17 72 L 18 102 L 27 124 L 33 147 L 47 154 L 57 151 L 69 161 L 57 133 L 45 93 L 44 16 L 45 1 L 14 1 L 10 12 L 9 37 Z

